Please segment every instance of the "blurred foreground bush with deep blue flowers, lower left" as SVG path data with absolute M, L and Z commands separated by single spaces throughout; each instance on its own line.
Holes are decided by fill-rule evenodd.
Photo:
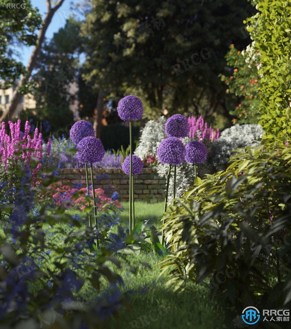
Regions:
M 64 213 L 64 205 L 44 200 L 59 179 L 59 172 L 49 168 L 38 172 L 40 184 L 31 184 L 21 159 L 0 171 L 0 322 L 5 328 L 20 323 L 99 327 L 125 297 L 115 271 L 122 254 L 117 259 L 105 246 L 114 207 L 107 203 L 98 213 L 102 227 L 88 227 L 87 217 Z M 129 270 L 135 272 L 132 266 Z

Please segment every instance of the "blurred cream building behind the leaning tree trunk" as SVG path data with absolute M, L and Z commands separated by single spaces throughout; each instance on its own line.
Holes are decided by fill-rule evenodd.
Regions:
M 13 92 L 14 87 L 8 89 L 0 89 L 0 111 L 8 111 Z M 36 109 L 36 100 L 34 99 L 33 95 L 29 93 L 21 97 L 20 102 L 16 107 L 15 115 L 17 116 L 20 111 L 28 109 L 32 111 Z

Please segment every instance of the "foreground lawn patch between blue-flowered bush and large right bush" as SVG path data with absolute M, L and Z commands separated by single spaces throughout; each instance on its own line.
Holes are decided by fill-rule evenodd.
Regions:
M 127 259 L 138 272 L 134 275 L 126 268 L 119 271 L 124 280 L 122 290 L 134 292 L 127 305 L 119 309 L 118 318 L 111 316 L 109 328 L 223 328 L 224 310 L 217 300 L 210 301 L 206 285 L 188 282 L 184 291 L 174 291 L 173 286 L 166 285 L 166 274 L 159 275 L 161 258 L 143 253 Z M 148 263 L 151 269 L 140 262 Z

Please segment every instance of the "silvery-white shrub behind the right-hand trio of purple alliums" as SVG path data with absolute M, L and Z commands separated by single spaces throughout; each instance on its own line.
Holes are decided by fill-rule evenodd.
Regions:
M 142 129 L 139 145 L 134 154 L 143 159 L 147 154 L 156 155 L 160 142 L 167 138 L 165 133 L 166 119 L 160 117 L 158 121 L 150 120 Z M 257 146 L 263 137 L 263 129 L 259 124 L 234 125 L 222 131 L 217 141 L 211 142 L 204 140 L 208 149 L 207 160 L 202 164 L 197 164 L 197 175 L 203 177 L 205 174 L 213 174 L 223 170 L 228 166 L 228 160 L 234 152 L 232 150 L 247 146 Z M 192 139 L 186 137 L 183 144 L 187 145 Z M 155 166 L 158 174 L 166 179 L 169 165 L 161 164 L 157 161 Z M 174 165 L 172 166 L 172 175 L 169 184 L 169 200 L 173 197 L 174 190 Z M 181 197 L 188 187 L 193 185 L 195 178 L 194 165 L 184 161 L 177 165 L 176 196 Z

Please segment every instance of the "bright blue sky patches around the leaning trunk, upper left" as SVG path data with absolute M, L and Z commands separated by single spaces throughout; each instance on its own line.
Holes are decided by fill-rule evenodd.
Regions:
M 53 1 L 51 1 L 53 2 Z M 76 1 L 74 1 L 76 2 Z M 46 0 L 31 0 L 31 3 L 34 7 L 39 9 L 40 14 L 45 17 L 45 13 L 47 12 Z M 72 0 L 65 0 L 60 9 L 54 14 L 49 28 L 46 33 L 46 38 L 52 38 L 53 34 L 59 30 L 59 28 L 65 25 L 65 18 L 69 17 L 70 5 L 72 4 Z M 21 61 L 23 65 L 26 66 L 29 56 L 31 54 L 33 47 L 22 47 L 20 53 L 20 57 L 17 60 Z

